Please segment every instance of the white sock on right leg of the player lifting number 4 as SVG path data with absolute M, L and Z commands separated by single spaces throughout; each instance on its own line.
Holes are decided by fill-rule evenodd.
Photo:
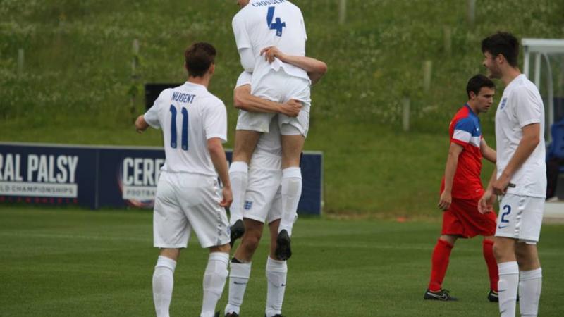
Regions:
M 282 302 L 286 291 L 286 275 L 288 266 L 286 261 L 277 261 L 270 256 L 266 260 L 266 280 L 268 291 L 266 293 L 266 316 L 282 313 Z

